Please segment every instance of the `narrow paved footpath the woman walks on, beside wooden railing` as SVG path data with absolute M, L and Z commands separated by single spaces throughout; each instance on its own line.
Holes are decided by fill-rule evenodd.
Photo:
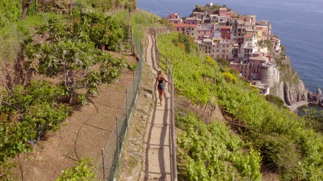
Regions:
M 148 45 L 145 50 L 145 60 L 151 72 L 156 77 L 158 66 L 155 62 L 153 49 L 154 39 L 147 35 Z M 155 85 L 154 85 L 155 86 Z M 171 180 L 170 162 L 170 93 L 165 87 L 163 106 L 160 106 L 158 91 L 154 90 L 154 105 L 149 113 L 144 135 L 145 159 L 140 180 Z

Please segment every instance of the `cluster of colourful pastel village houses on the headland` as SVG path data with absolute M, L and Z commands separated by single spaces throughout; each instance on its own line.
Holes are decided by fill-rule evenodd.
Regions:
M 216 6 L 211 2 L 206 7 Z M 184 18 L 173 13 L 168 20 L 175 31 L 191 36 L 199 51 L 214 59 L 224 58 L 261 94 L 269 94 L 270 87 L 279 82 L 273 55 L 281 52 L 281 40 L 272 34 L 270 22 L 256 21 L 256 15 L 238 15 L 225 7 L 213 12 L 194 11 Z

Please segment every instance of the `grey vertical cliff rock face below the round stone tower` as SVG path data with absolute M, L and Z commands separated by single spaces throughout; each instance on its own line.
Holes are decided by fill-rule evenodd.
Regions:
M 281 81 L 277 84 L 276 96 L 284 100 L 289 106 L 292 106 L 297 102 L 307 101 L 307 93 L 308 91 L 305 89 L 305 85 L 300 79 L 296 83 Z

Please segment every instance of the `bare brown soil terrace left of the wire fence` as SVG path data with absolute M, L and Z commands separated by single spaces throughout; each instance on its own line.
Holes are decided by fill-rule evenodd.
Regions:
M 125 55 L 125 58 L 128 63 L 137 62 L 132 55 Z M 63 170 L 86 156 L 93 158 L 93 165 L 96 165 L 101 157 L 101 149 L 109 141 L 132 78 L 133 72 L 123 70 L 119 82 L 102 85 L 100 95 L 88 105 L 75 110 L 60 131 L 48 133 L 47 139 L 40 141 L 31 153 L 21 154 L 24 181 L 55 180 Z M 12 172 L 21 180 L 19 167 Z

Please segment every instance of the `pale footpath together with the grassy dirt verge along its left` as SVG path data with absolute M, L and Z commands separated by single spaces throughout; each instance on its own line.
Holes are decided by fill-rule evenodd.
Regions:
M 131 118 L 117 180 L 171 180 L 169 148 L 170 95 L 166 90 L 163 106 L 155 91 L 157 65 L 153 39 L 146 36 L 142 87 Z

